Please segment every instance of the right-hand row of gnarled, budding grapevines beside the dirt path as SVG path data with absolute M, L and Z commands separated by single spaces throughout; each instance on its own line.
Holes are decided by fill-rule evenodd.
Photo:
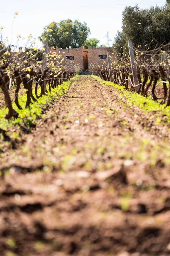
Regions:
M 140 46 L 139 46 L 140 47 Z M 166 48 L 166 47 L 165 47 Z M 111 61 L 111 76 L 115 84 L 125 86 L 126 90 L 135 90 L 137 93 L 141 93 L 143 96 L 150 94 L 153 96 L 153 100 L 157 101 L 159 98 L 155 95 L 156 86 L 163 84 L 164 96 L 160 104 L 166 102 L 167 106 L 170 106 L 170 93 L 167 95 L 167 85 L 170 83 L 170 55 L 166 51 L 161 51 L 161 48 L 146 51 L 139 51 L 134 49 L 136 53 L 135 65 L 137 69 L 137 84 L 133 82 L 132 65 L 130 64 L 130 57 L 123 53 L 115 56 L 109 56 Z M 162 61 L 163 56 L 163 61 Z M 100 76 L 105 81 L 111 81 L 109 74 L 108 64 L 96 63 L 91 66 L 92 72 Z M 160 81 L 161 80 L 161 81 Z M 150 90 L 148 90 L 150 88 Z

